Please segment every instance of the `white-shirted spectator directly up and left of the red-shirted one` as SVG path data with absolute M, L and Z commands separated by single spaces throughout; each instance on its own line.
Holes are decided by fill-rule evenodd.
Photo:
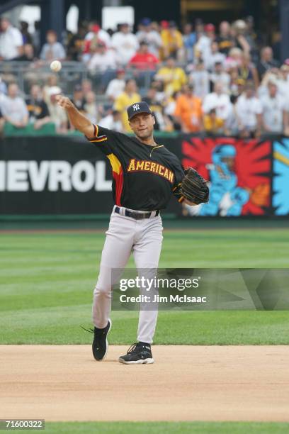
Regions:
M 139 48 L 137 36 L 131 33 L 127 23 L 120 26 L 120 31 L 111 38 L 111 43 L 121 65 L 126 65 Z

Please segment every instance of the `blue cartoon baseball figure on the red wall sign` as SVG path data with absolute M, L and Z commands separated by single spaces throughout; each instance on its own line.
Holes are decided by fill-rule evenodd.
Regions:
M 249 201 L 249 191 L 238 187 L 234 172 L 236 149 L 233 145 L 217 145 L 212 150 L 210 173 L 210 201 L 202 204 L 199 216 L 239 216 Z

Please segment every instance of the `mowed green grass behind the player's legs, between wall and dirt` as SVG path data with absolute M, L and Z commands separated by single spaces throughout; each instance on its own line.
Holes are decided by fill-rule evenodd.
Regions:
M 104 233 L 0 235 L 0 343 L 91 343 L 91 299 Z M 164 233 L 160 267 L 287 267 L 286 229 Z M 132 266 L 133 262 L 130 262 Z M 112 313 L 110 342 L 135 341 L 136 311 Z M 288 344 L 286 311 L 159 313 L 155 343 Z

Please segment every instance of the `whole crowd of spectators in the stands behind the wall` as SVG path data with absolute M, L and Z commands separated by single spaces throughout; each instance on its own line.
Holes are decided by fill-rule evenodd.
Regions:
M 27 23 L 18 29 L 1 18 L 0 60 L 36 67 L 81 62 L 89 78 L 74 85 L 72 99 L 107 128 L 129 132 L 126 108 L 143 99 L 157 130 L 245 138 L 289 133 L 289 59 L 280 64 L 278 43 L 266 45 L 251 17 L 217 28 L 197 19 L 182 30 L 173 21 L 144 18 L 136 33 L 127 23 L 115 31 L 81 23 L 63 41 L 49 30 L 42 46 L 39 23 L 30 34 Z M 37 130 L 54 123 L 58 133 L 67 133 L 72 127 L 55 100 L 59 81 L 59 74 L 45 83 L 30 80 L 25 96 L 13 77 L 0 74 L 0 128 L 33 124 Z M 101 104 L 99 94 L 105 96 Z

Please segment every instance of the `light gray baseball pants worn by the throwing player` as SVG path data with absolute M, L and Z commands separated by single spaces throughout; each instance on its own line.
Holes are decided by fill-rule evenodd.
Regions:
M 150 218 L 135 220 L 125 216 L 125 208 L 120 208 L 121 215 L 115 213 L 114 209 L 115 207 L 106 231 L 98 280 L 94 289 L 92 321 L 97 328 L 106 327 L 111 313 L 112 286 L 118 280 L 112 282 L 112 269 L 124 269 L 132 252 L 139 275 L 141 273 L 143 276 L 143 269 L 147 269 L 145 277 L 152 278 L 156 275 L 162 249 L 161 216 L 156 217 L 152 211 Z M 115 277 L 113 279 L 115 280 Z M 137 340 L 152 343 L 156 325 L 157 311 L 141 309 Z

